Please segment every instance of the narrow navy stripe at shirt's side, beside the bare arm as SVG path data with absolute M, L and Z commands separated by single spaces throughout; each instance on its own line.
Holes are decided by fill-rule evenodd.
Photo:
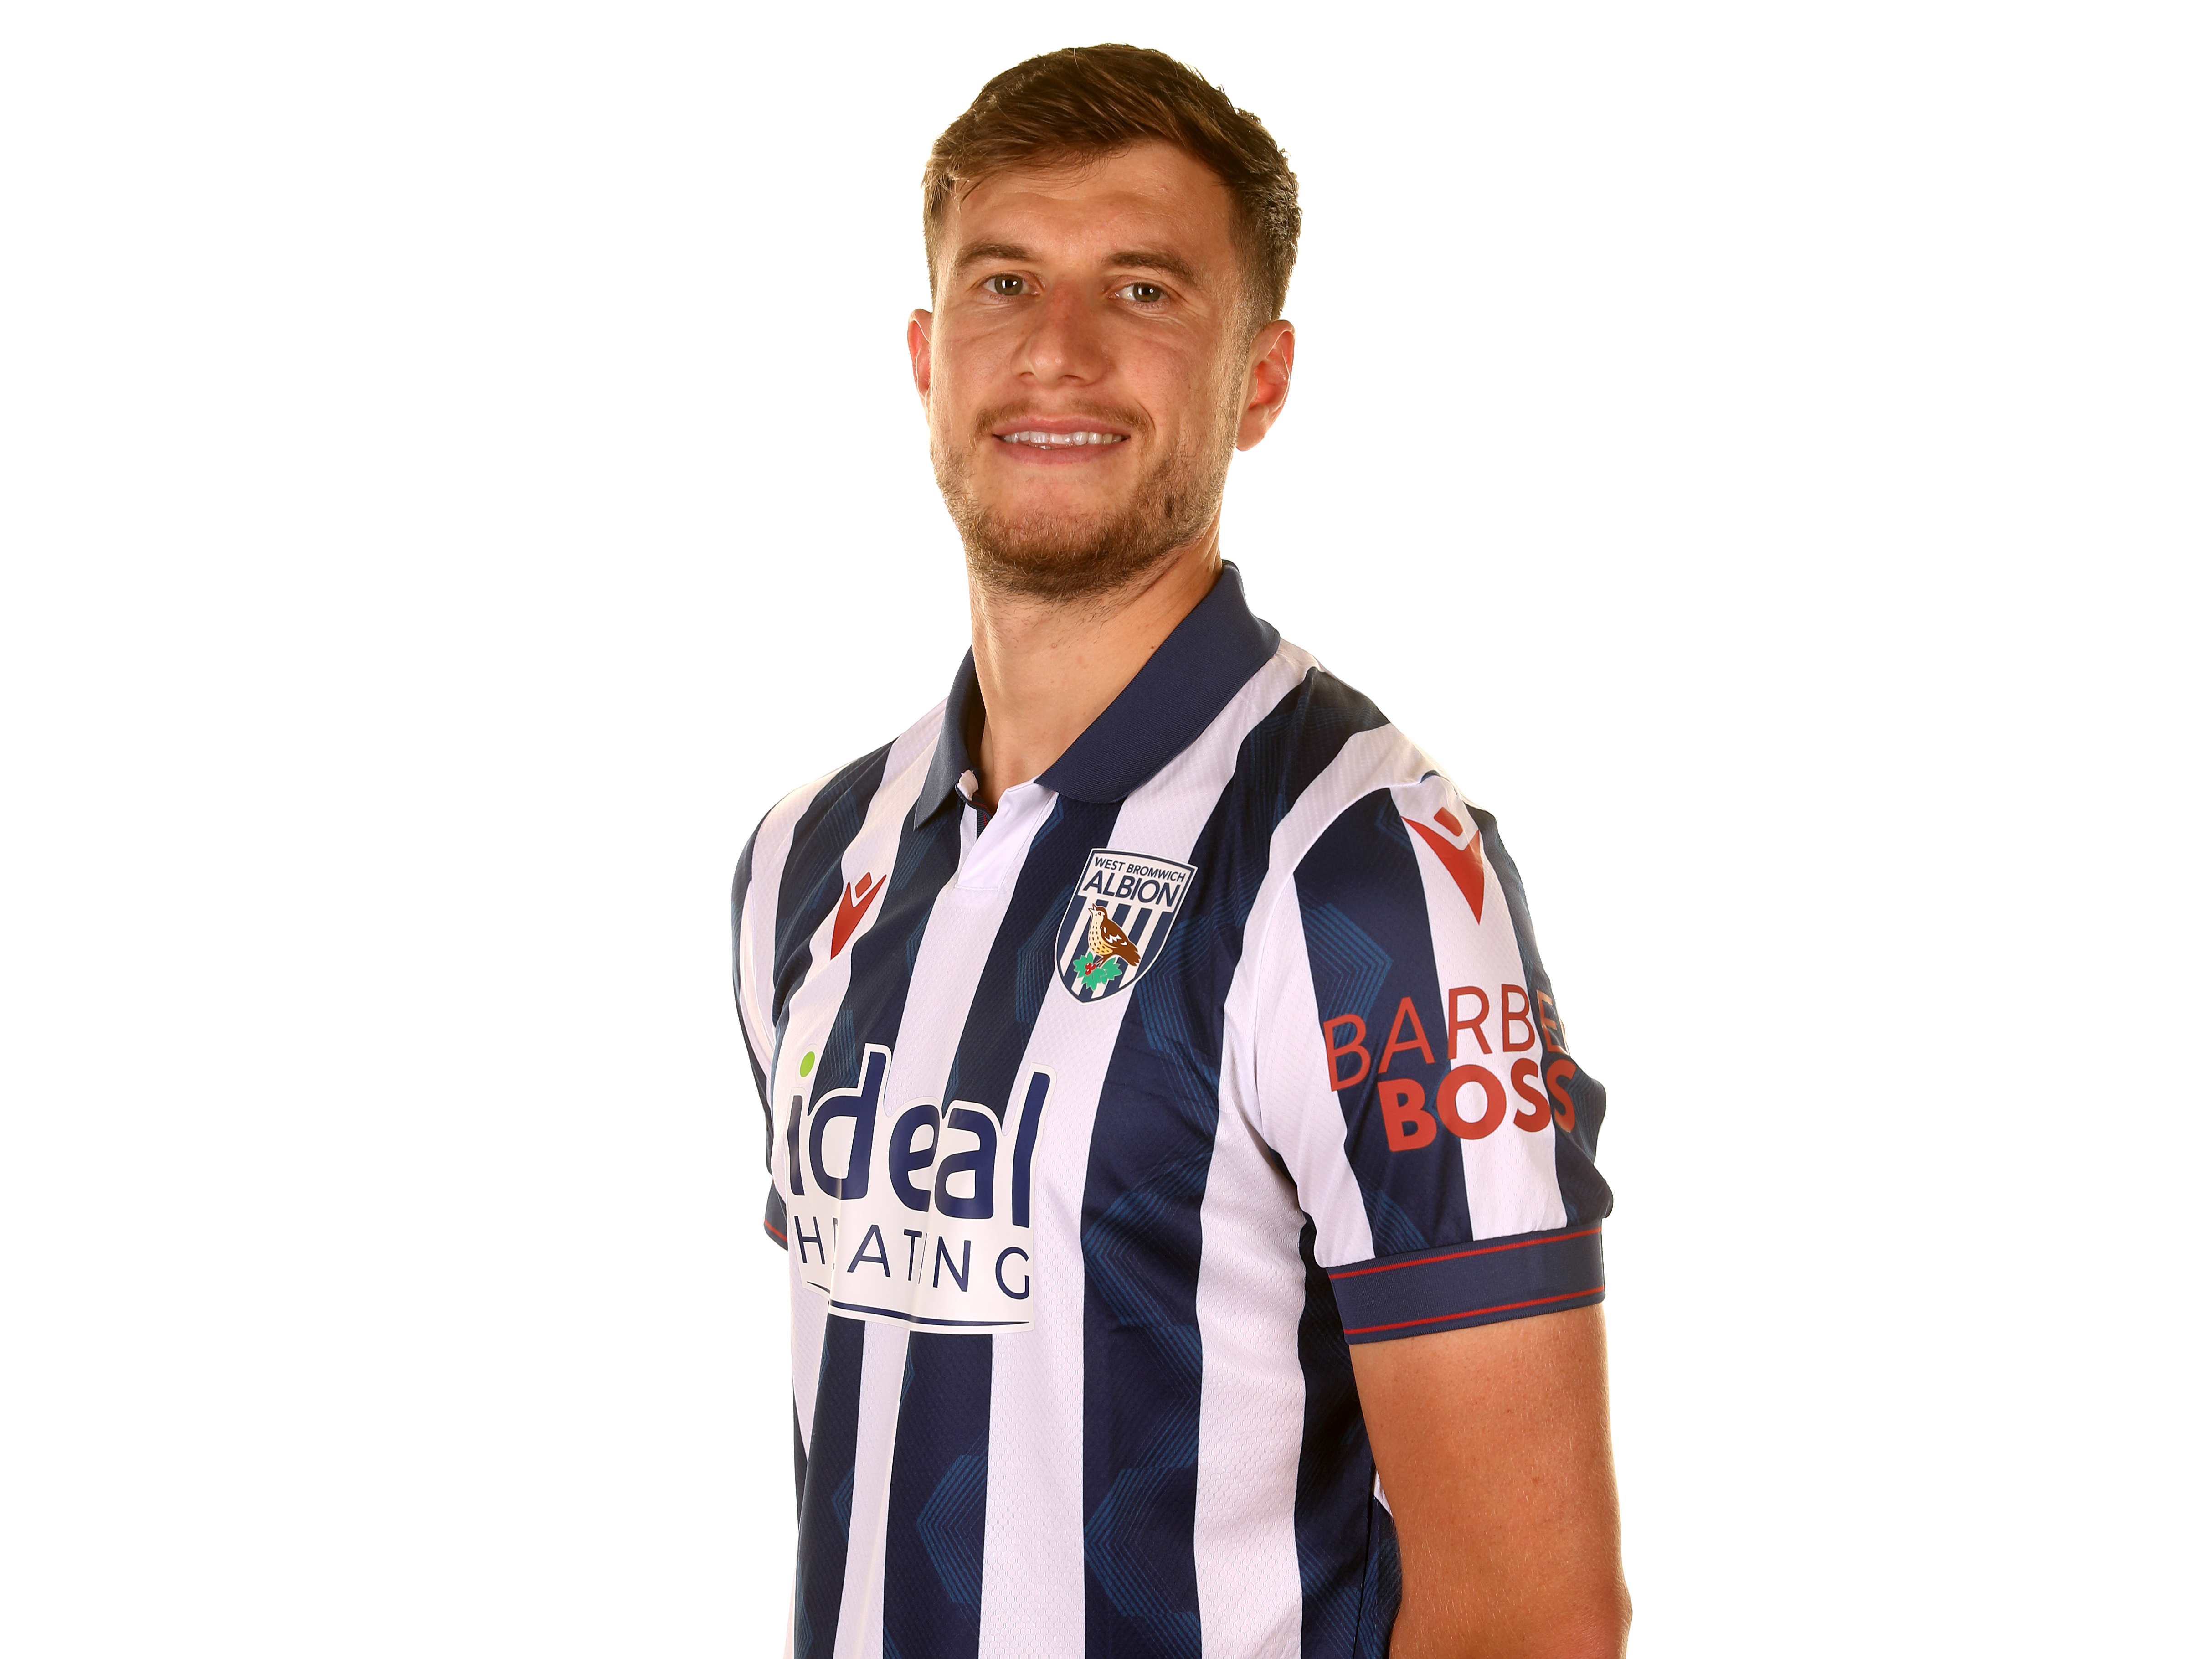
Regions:
M 1298 1652 L 1343 1659 L 1352 1652 L 1367 1586 L 1367 1504 L 1376 1462 L 1352 1378 L 1352 1349 L 1336 1316 L 1329 1274 L 1314 1261 L 1314 1221 L 1298 1232 L 1305 1263 L 1305 1312 L 1298 1314 L 1298 1369 L 1305 1371 L 1305 1433 L 1298 1444 L 1298 1493 L 1292 1535 L 1305 1615 Z

